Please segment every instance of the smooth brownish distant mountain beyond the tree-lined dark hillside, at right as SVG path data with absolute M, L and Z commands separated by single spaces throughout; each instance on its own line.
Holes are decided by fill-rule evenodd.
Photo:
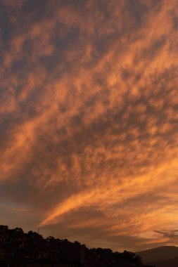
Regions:
M 178 266 L 178 247 L 163 246 L 136 252 L 144 263 L 154 264 L 156 267 Z

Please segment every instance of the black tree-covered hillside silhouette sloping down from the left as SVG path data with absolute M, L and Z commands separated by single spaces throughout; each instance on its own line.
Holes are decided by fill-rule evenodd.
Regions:
M 140 267 L 141 257 L 132 252 L 112 252 L 111 249 L 88 249 L 80 242 L 43 238 L 22 228 L 0 226 L 1 267 Z

